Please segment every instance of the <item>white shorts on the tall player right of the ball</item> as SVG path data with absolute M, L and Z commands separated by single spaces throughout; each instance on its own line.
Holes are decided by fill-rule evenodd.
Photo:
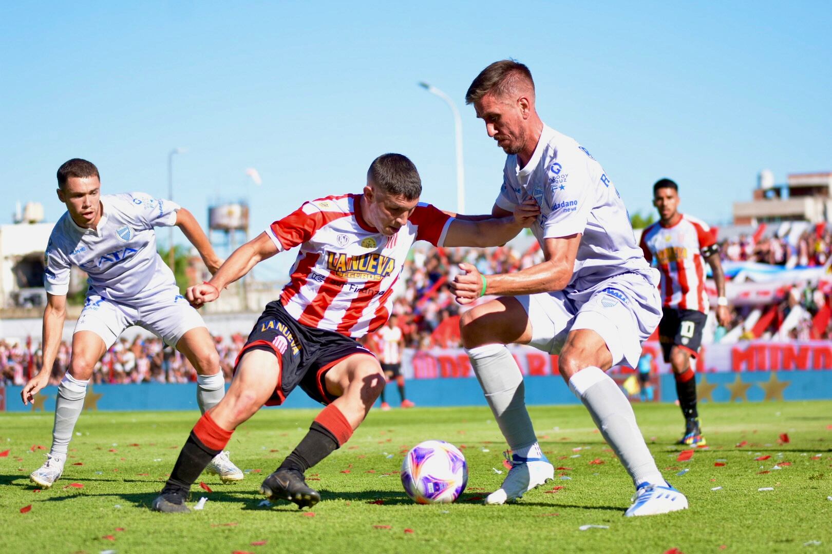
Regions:
M 542 292 L 516 297 L 532 324 L 537 350 L 559 354 L 569 331 L 591 329 L 607 343 L 612 365 L 635 368 L 641 343 L 661 321 L 661 297 L 638 273 L 624 273 L 587 291 Z

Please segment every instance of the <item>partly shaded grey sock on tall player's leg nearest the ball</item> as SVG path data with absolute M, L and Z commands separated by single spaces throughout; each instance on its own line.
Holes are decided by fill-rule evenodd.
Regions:
M 504 345 L 466 349 L 485 400 L 509 448 L 523 458 L 540 458 L 532 419 L 526 409 L 526 389 L 511 352 Z

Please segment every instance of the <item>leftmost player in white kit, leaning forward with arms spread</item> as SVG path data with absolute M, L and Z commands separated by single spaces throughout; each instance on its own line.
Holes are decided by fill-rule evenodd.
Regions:
M 45 253 L 43 366 L 23 387 L 23 404 L 47 385 L 52 372 L 66 317 L 70 267 L 87 272 L 89 289 L 72 334 L 69 369 L 57 390 L 52 449 L 46 463 L 29 476 L 42 488 L 61 477 L 92 371 L 127 327 L 145 327 L 191 360 L 198 374 L 196 401 L 203 412 L 225 395 L 214 341 L 156 252 L 153 228 L 176 225 L 215 272 L 221 260 L 196 218 L 171 200 L 144 193 L 102 195 L 98 169 L 85 159 L 62 164 L 57 184 L 57 197 L 67 204 L 67 212 L 52 229 Z M 227 452 L 217 453 L 208 470 L 223 481 L 243 478 Z

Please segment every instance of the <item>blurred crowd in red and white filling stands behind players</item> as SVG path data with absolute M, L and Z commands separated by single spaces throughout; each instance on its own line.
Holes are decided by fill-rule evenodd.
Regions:
M 795 246 L 783 238 L 740 236 L 722 243 L 722 257 L 730 261 L 761 262 L 802 267 L 823 266 L 832 253 L 832 234 L 826 228 L 803 233 Z M 461 271 L 459 263 L 467 262 L 484 274 L 514 272 L 542 261 L 537 243 L 525 251 L 510 246 L 490 249 L 428 248 L 414 249 L 405 262 L 402 289 L 394 300 L 393 313 L 404 334 L 405 345 L 413 348 L 448 348 L 460 346 L 460 306 L 453 301 L 449 282 Z M 746 326 L 751 308 L 734 311 L 734 321 L 721 336 L 737 330 L 739 340 L 766 338 L 775 335 L 780 324 L 792 311 L 796 325 L 787 335 L 775 338 L 810 340 L 832 338 L 832 290 L 829 283 L 814 283 L 806 287 L 792 286 L 782 292 L 776 302 L 763 306 L 763 316 L 753 326 Z M 741 326 L 741 328 L 739 328 Z M 747 327 L 747 328 L 746 328 Z M 739 332 L 741 331 L 741 332 Z M 31 341 L 31 339 L 30 339 Z M 237 353 L 245 344 L 245 336 L 215 337 L 217 350 L 226 380 L 230 380 Z M 67 370 L 70 346 L 62 342 L 52 367 L 50 385 L 57 385 Z M 42 365 L 39 346 L 0 340 L 0 380 L 9 385 L 22 385 L 30 372 Z M 33 373 L 32 373 L 33 375 Z M 191 363 L 177 351 L 163 348 L 156 338 L 127 341 L 121 338 L 97 364 L 94 383 L 185 383 L 196 380 Z

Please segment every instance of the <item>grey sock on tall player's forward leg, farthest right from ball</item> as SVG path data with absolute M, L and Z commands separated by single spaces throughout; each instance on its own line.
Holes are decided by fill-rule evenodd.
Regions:
M 591 366 L 572 375 L 569 388 L 587 406 L 607 444 L 615 450 L 636 487 L 641 483 L 664 485 L 665 479 L 656 468 L 656 462 L 636 424 L 636 414 L 616 382 L 601 369 Z

